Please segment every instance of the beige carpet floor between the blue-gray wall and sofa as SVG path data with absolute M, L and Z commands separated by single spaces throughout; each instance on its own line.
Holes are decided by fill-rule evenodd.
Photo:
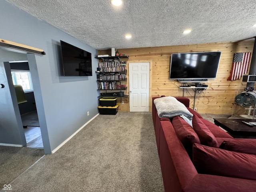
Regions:
M 152 113 L 99 115 L 10 184 L 17 192 L 163 192 Z

